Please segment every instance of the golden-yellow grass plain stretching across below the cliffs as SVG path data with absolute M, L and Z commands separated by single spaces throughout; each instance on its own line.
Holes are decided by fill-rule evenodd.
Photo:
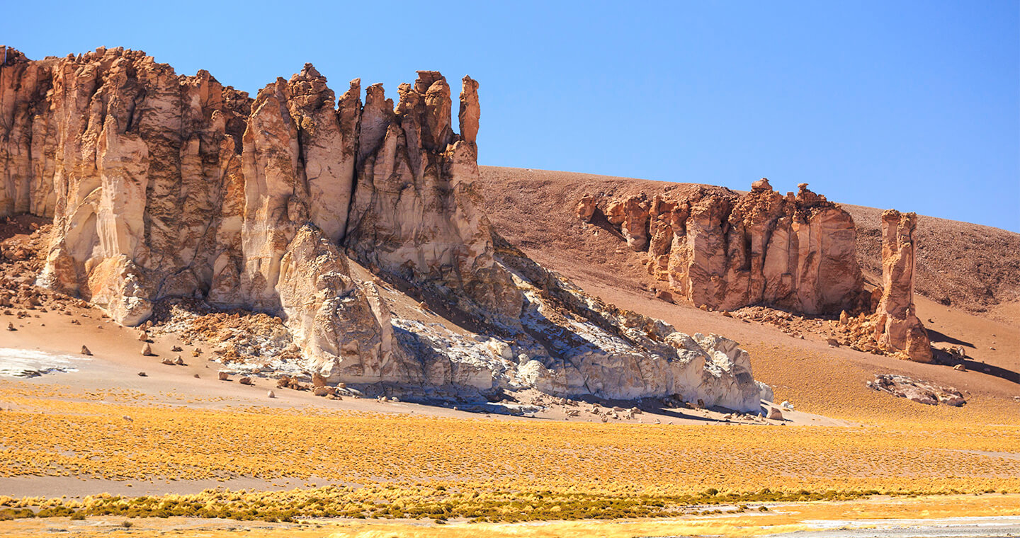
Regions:
M 321 408 L 156 405 L 130 391 L 0 384 L 0 476 L 143 483 L 286 477 L 299 491 L 142 499 L 0 497 L 0 516 L 428 518 L 474 522 L 678 517 L 705 505 L 875 494 L 1020 492 L 1020 426 L 857 427 L 451 419 Z M 336 485 L 337 483 L 347 485 Z M 748 506 L 748 504 L 752 504 Z M 19 514 L 21 516 L 19 516 Z

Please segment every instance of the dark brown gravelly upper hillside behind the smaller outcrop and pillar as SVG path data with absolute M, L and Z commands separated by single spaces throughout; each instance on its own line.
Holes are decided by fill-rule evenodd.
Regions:
M 584 260 L 586 263 L 575 270 L 631 289 L 642 287 L 644 282 L 627 269 L 636 268 L 634 257 L 611 233 L 599 236 L 575 233 L 581 228 L 574 214 L 577 202 L 584 195 L 616 198 L 640 193 L 675 195 L 696 186 L 696 183 L 495 166 L 482 166 L 481 179 L 490 218 L 505 237 L 534 252 L 554 268 L 565 270 L 557 265 Z M 776 190 L 796 191 L 795 185 L 778 181 Z M 874 281 L 882 272 L 879 230 L 882 209 L 842 206 L 857 224 L 858 261 L 868 279 Z M 562 231 L 552 233 L 552 230 Z M 571 233 L 566 233 L 568 230 Z M 1016 319 L 1020 302 L 1020 234 L 922 215 L 918 219 L 917 238 L 919 294 L 1000 321 Z

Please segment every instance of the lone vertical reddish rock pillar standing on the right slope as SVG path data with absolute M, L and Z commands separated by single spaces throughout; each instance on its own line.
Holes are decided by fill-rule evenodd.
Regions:
M 931 342 L 914 308 L 914 227 L 917 214 L 882 213 L 882 299 L 875 330 L 878 344 L 918 363 L 930 363 Z

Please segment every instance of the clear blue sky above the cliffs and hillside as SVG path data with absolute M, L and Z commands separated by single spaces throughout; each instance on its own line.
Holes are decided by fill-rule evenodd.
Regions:
M 141 49 L 253 95 L 479 80 L 479 162 L 778 191 L 1020 231 L 1020 3 L 26 2 L 30 58 Z M 455 106 L 456 108 L 456 106 Z M 454 112 L 456 113 L 456 111 Z

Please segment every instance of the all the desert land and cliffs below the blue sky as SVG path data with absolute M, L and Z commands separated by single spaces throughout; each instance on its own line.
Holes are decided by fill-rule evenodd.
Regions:
M 1017 233 L 478 167 L 469 76 L 3 51 L 0 536 L 1020 518 Z

